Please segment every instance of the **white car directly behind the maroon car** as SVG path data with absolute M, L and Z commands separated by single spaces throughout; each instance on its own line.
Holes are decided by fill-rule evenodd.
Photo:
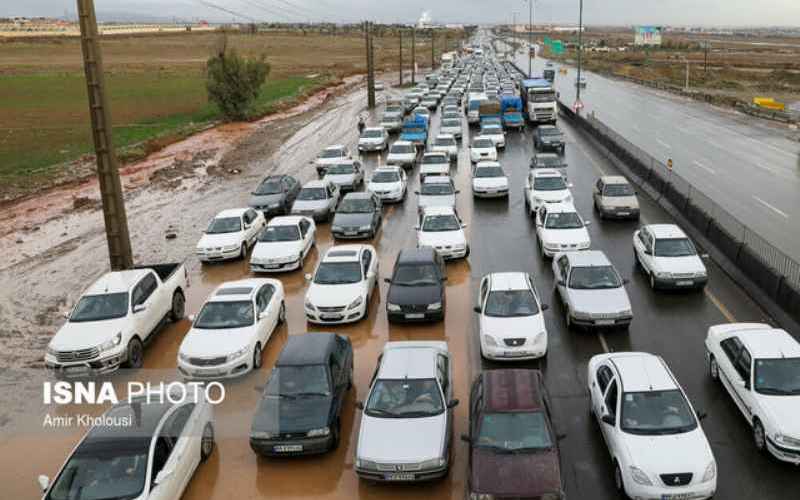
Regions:
M 537 359 L 547 354 L 547 328 L 533 277 L 493 273 L 478 291 L 481 355 L 492 360 Z

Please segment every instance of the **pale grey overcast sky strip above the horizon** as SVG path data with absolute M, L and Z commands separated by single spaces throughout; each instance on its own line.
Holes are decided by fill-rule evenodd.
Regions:
M 577 22 L 578 0 L 534 0 L 535 22 Z M 74 16 L 75 0 L 2 0 L 0 17 Z M 100 13 L 210 21 L 411 22 L 428 10 L 434 22 L 503 23 L 525 0 L 95 0 Z M 217 8 L 212 7 L 216 6 Z M 523 20 L 524 17 L 524 20 Z M 584 0 L 587 24 L 800 26 L 800 0 Z

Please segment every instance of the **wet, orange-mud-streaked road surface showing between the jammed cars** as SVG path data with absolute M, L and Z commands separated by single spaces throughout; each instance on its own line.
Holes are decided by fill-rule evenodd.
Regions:
M 333 111 L 321 119 L 335 119 L 335 116 L 336 111 Z M 466 121 L 464 123 L 466 125 Z M 351 145 L 354 145 L 355 139 L 354 125 L 348 124 L 353 133 L 345 134 Z M 306 288 L 303 273 L 281 275 L 287 294 L 287 325 L 273 334 L 264 350 L 264 366 L 261 370 L 227 384 L 227 400 L 217 409 L 218 448 L 212 458 L 200 466 L 184 498 L 399 499 L 423 495 L 431 499 L 463 498 L 467 456 L 466 445 L 458 439 L 454 440 L 455 460 L 451 473 L 440 482 L 418 486 L 371 485 L 359 482 L 352 470 L 359 420 L 353 403 L 365 397 L 369 377 L 384 343 L 388 340 L 410 339 L 448 342 L 456 367 L 455 393 L 461 400 L 455 412 L 456 436 L 466 428 L 468 387 L 478 372 L 505 366 L 543 370 L 554 400 L 555 424 L 559 432 L 566 433 L 560 447 L 568 498 L 619 498 L 613 488 L 612 469 L 602 438 L 589 419 L 585 391 L 586 363 L 591 356 L 605 350 L 643 350 L 662 355 L 695 407 L 708 413 L 703 426 L 719 464 L 717 498 L 778 500 L 788 498 L 787 492 L 797 491 L 800 487 L 797 468 L 755 452 L 745 422 L 722 389 L 712 384 L 706 375 L 702 342 L 708 326 L 734 320 L 761 321 L 765 319 L 763 313 L 713 263 L 709 263 L 710 284 L 705 293 L 652 292 L 633 265 L 631 237 L 636 224 L 600 221 L 591 210 L 592 183 L 601 173 L 614 173 L 613 167 L 591 149 L 569 124 L 562 121 L 561 127 L 567 136 L 566 159 L 569 177 L 574 184 L 576 206 L 587 220 L 593 221 L 589 227 L 592 247 L 605 251 L 621 274 L 631 279 L 628 293 L 635 319 L 629 332 L 596 334 L 567 331 L 565 328 L 562 309 L 554 294 L 550 262 L 543 262 L 539 257 L 533 224 L 523 208 L 522 186 L 532 152 L 530 130 L 509 132 L 506 150 L 500 155 L 500 161 L 510 177 L 508 200 L 473 201 L 470 195 L 470 164 L 467 150 L 462 145 L 458 165 L 453 168 L 452 175 L 461 190 L 457 205 L 469 224 L 467 233 L 472 253 L 468 260 L 448 264 L 445 321 L 422 326 L 389 325 L 383 302 L 388 285 L 380 280 L 380 290 L 371 300 L 371 310 L 366 320 L 340 327 L 307 325 L 303 315 Z M 438 118 L 434 117 L 433 130 L 437 129 Z M 307 127 L 301 131 L 300 137 L 307 138 L 309 142 L 319 141 L 310 132 L 313 132 L 313 128 Z M 468 144 L 466 138 L 463 144 Z M 382 163 L 382 157 L 368 155 L 362 161 L 369 172 Z M 410 175 L 408 199 L 404 204 L 387 206 L 384 227 L 373 242 L 380 255 L 381 278 L 388 275 L 401 248 L 415 245 L 413 226 L 416 203 L 413 191 L 418 185 L 416 172 L 417 169 Z M 232 197 L 241 199 L 244 194 L 235 193 Z M 650 200 L 642 198 L 641 204 L 643 222 L 670 221 L 667 214 Z M 331 245 L 328 226 L 321 225 L 317 250 L 307 260 L 304 272 L 312 272 L 318 256 Z M 187 248 L 187 254 L 190 250 Z M 508 365 L 481 360 L 472 306 L 481 277 L 496 271 L 527 271 L 536 276 L 543 302 L 551 305 L 545 312 L 549 332 L 546 360 Z M 249 274 L 243 262 L 212 266 L 193 264 L 191 273 L 187 313 L 197 312 L 205 297 L 219 283 Z M 174 371 L 177 349 L 188 328 L 189 323 L 185 320 L 161 332 L 146 351 L 145 367 Z M 355 349 L 355 390 L 345 404 L 342 444 L 335 452 L 320 457 L 289 460 L 257 458 L 247 442 L 250 419 L 258 398 L 256 389 L 266 381 L 287 335 L 320 330 L 348 335 Z M 0 477 L 9 480 L 4 481 L 6 485 L 0 496 L 14 499 L 36 497 L 35 475 L 41 472 L 54 474 L 78 437 L 74 433 L 48 439 L 21 436 L 4 443 L 0 470 L 6 472 Z M 18 456 L 23 452 L 26 465 L 20 470 Z

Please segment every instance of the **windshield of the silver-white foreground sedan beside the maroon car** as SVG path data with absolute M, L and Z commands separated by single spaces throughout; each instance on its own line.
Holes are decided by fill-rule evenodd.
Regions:
M 370 417 L 432 417 L 444 411 L 441 391 L 434 379 L 378 380 L 367 401 Z

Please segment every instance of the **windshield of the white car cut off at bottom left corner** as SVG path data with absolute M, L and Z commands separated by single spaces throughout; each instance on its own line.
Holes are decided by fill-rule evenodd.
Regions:
M 86 441 L 70 457 L 46 500 L 138 498 L 147 476 L 149 441 L 143 438 Z

